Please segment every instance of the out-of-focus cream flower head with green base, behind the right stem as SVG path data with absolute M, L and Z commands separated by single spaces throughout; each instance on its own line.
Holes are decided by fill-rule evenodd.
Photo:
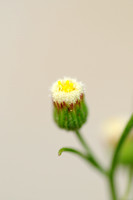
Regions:
M 104 140 L 109 147 L 115 148 L 120 136 L 128 122 L 128 117 L 120 116 L 113 117 L 104 123 L 103 135 Z M 119 155 L 119 162 L 121 164 L 133 164 L 133 129 L 129 133 Z

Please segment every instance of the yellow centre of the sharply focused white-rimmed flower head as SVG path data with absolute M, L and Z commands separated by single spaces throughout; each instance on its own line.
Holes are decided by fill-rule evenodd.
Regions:
M 69 80 L 66 80 L 65 82 L 58 81 L 58 87 L 59 87 L 59 91 L 62 91 L 62 92 L 71 92 L 75 90 L 74 84 L 70 82 Z

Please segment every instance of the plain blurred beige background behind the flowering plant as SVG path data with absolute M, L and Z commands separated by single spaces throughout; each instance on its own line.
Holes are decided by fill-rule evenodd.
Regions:
M 0 0 L 1 200 L 108 199 L 96 171 L 57 156 L 79 146 L 52 120 L 49 88 L 65 75 L 86 84 L 82 132 L 108 165 L 100 124 L 133 108 L 132 0 Z

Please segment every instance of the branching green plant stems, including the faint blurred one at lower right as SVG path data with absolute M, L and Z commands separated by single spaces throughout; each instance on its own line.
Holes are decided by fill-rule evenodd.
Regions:
M 80 134 L 79 130 L 76 130 L 75 133 L 76 133 L 78 140 L 80 141 L 80 143 L 82 144 L 82 146 L 86 150 L 86 153 L 84 154 L 84 153 L 82 153 L 82 152 L 80 152 L 76 149 L 64 147 L 64 148 L 59 150 L 58 154 L 61 155 L 62 152 L 65 152 L 65 151 L 71 152 L 71 153 L 74 153 L 74 154 L 80 156 L 81 158 L 83 158 L 87 162 L 91 163 L 100 173 L 102 173 L 108 179 L 110 191 L 111 191 L 111 199 L 112 200 L 118 200 L 116 188 L 115 188 L 115 172 L 116 172 L 116 167 L 117 167 L 117 162 L 118 162 L 120 150 L 121 150 L 122 145 L 123 145 L 124 141 L 126 140 L 126 138 L 128 137 L 132 128 L 133 128 L 133 114 L 131 115 L 131 118 L 129 119 L 129 121 L 128 121 L 122 135 L 121 135 L 121 138 L 120 138 L 120 140 L 119 140 L 119 142 L 116 146 L 116 149 L 115 149 L 113 157 L 112 157 L 111 167 L 108 171 L 106 171 L 101 166 L 101 164 L 99 164 L 99 162 L 97 161 L 97 159 L 94 156 L 94 153 L 92 153 L 91 149 L 89 148 L 88 144 L 84 140 L 83 136 Z M 133 173 L 133 171 L 132 171 L 132 173 Z M 126 190 L 126 194 L 125 194 L 123 200 L 126 200 L 126 198 L 128 196 L 128 193 L 129 193 L 129 190 L 130 190 L 130 185 L 131 185 L 131 174 L 130 174 L 129 184 L 128 184 L 128 187 L 127 187 L 127 190 Z

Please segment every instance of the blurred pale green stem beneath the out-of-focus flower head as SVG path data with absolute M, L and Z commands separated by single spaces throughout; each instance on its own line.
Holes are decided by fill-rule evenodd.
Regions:
M 131 185 L 132 185 L 132 180 L 133 180 L 133 166 L 130 166 L 130 168 L 129 168 L 129 176 L 128 176 L 128 184 L 127 184 L 127 188 L 126 188 L 126 191 L 125 191 L 125 194 L 124 194 L 122 200 L 127 200 L 128 199 L 129 192 L 130 192 Z

